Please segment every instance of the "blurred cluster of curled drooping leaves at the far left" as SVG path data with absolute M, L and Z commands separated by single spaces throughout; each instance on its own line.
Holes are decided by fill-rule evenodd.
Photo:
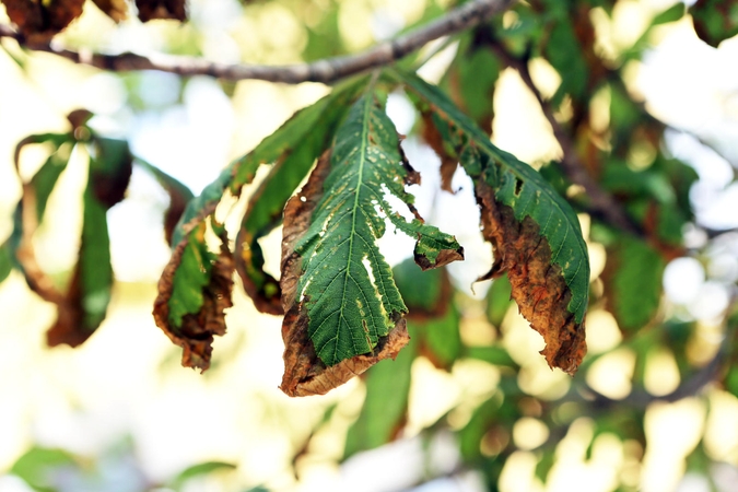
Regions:
M 105 319 L 114 283 L 106 212 L 124 199 L 134 165 L 128 143 L 96 134 L 86 125 L 90 116 L 86 110 L 72 112 L 68 116 L 71 126 L 68 133 L 30 136 L 15 150 L 19 176 L 25 174 L 22 168 L 24 147 L 46 145 L 49 155 L 23 183 L 23 196 L 14 213 L 13 233 L 0 247 L 0 281 L 14 267 L 23 273 L 34 292 L 56 305 L 57 319 L 47 332 L 50 347 L 62 343 L 77 347 Z M 167 224 L 171 226 L 172 221 L 178 220 L 184 203 L 192 198 L 192 194 L 155 166 L 143 161 L 137 161 L 136 165 L 151 173 L 169 195 L 165 229 Z M 83 212 L 78 259 L 66 278 L 58 279 L 39 266 L 34 237 L 46 219 L 49 198 L 69 166 L 86 169 L 86 185 L 79 197 Z

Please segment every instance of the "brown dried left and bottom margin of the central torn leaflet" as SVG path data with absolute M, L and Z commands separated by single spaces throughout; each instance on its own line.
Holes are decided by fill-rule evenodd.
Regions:
M 395 327 L 379 338 L 367 354 L 345 359 L 327 366 L 316 354 L 308 333 L 305 301 L 298 302 L 297 284 L 303 273 L 302 258 L 295 246 L 311 225 L 313 212 L 323 197 L 323 184 L 330 172 L 330 152 L 324 153 L 300 194 L 284 208 L 282 238 L 282 306 L 286 313 L 282 325 L 284 340 L 284 376 L 280 388 L 286 395 L 325 395 L 366 371 L 383 359 L 395 359 L 408 341 L 406 321 L 398 316 Z

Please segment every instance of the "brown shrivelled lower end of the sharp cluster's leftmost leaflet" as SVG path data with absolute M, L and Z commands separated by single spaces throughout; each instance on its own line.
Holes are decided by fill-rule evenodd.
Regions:
M 154 320 L 173 343 L 181 347 L 181 365 L 196 367 L 204 372 L 210 367 L 213 336 L 225 335 L 225 309 L 233 306 L 231 293 L 233 291 L 233 256 L 227 248 L 225 231 L 220 234 L 221 249 L 210 265 L 188 265 L 199 271 L 207 272 L 207 284 L 202 285 L 200 309 L 197 313 L 184 314 L 179 319 L 174 316 L 169 306 L 175 285 L 178 283 L 177 273 L 186 256 L 196 261 L 210 262 L 210 256 L 203 255 L 204 233 L 207 223 L 200 222 L 177 245 L 172 258 L 164 268 L 159 280 L 159 295 L 154 302 Z M 183 271 L 186 267 L 183 267 Z M 181 274 L 181 273 L 180 273 Z M 186 273 L 185 273 L 186 274 Z M 197 289 L 197 285 L 191 285 Z

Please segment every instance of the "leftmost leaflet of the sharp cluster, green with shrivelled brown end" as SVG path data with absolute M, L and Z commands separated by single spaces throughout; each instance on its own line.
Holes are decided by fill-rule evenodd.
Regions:
M 219 203 L 225 194 L 238 197 L 243 187 L 253 183 L 259 166 L 285 159 L 313 129 L 311 121 L 319 116 L 325 99 L 295 113 L 251 152 L 232 162 L 189 201 L 174 227 L 173 255 L 160 279 L 153 314 L 156 325 L 183 347 L 184 366 L 207 370 L 213 336 L 225 332 L 224 309 L 231 305 L 232 292 L 227 281 L 236 262 L 225 231 L 214 220 Z M 204 243 L 208 222 L 222 243 L 218 255 Z

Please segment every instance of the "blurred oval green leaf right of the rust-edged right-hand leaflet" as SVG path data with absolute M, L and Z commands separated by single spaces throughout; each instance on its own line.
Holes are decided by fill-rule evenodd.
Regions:
M 608 247 L 607 306 L 623 331 L 634 332 L 656 315 L 665 267 L 661 255 L 642 239 L 620 236 Z

